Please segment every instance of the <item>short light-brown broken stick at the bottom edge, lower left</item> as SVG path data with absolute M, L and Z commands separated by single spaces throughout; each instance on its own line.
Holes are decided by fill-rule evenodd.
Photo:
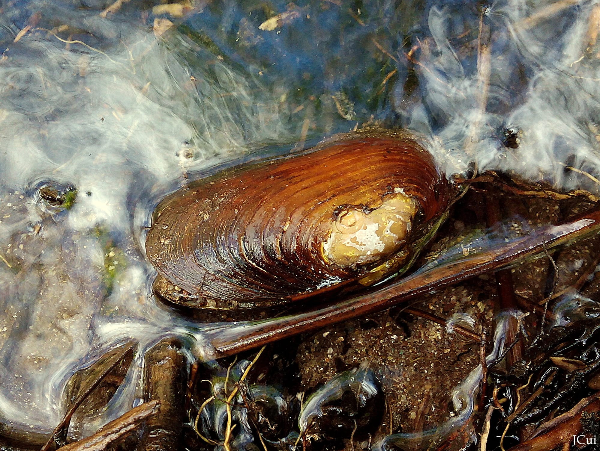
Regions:
M 70 443 L 67 446 L 59 448 L 61 451 L 104 451 L 115 440 L 123 437 L 136 429 L 145 420 L 151 418 L 160 411 L 160 402 L 145 402 L 127 413 L 121 415 L 116 420 L 104 425 L 94 435 Z

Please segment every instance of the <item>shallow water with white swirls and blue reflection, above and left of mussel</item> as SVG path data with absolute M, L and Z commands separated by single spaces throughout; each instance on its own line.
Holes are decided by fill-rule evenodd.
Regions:
M 109 5 L 0 8 L 0 417 L 14 429 L 51 431 L 65 381 L 111 344 L 175 332 L 191 347 L 211 327 L 152 298 L 143 243 L 161 198 L 224 165 L 380 121 L 429 137 L 449 174 L 598 192 L 595 2 L 201 2 L 159 14 L 175 24 L 160 36 L 147 4 L 101 17 Z M 72 207 L 41 199 L 46 184 L 72 186 Z

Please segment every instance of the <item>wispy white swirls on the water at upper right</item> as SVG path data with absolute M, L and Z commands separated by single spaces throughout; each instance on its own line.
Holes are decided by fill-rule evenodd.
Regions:
M 431 8 L 431 41 L 424 43 L 416 67 L 427 113 L 416 107 L 407 123 L 442 140 L 446 151 L 439 157 L 446 172 L 465 172 L 475 162 L 480 172 L 512 171 L 560 190 L 598 191 L 591 178 L 565 169 L 598 175 L 600 64 L 589 33 L 598 2 L 581 2 L 577 9 L 566 2 L 532 8 L 520 1 L 487 8 L 488 79 L 478 71 L 476 39 L 460 56 L 459 45 L 451 44 L 458 35 L 456 11 Z M 464 12 L 478 29 L 479 18 L 469 14 Z M 479 104 L 482 83 L 488 86 L 484 110 Z M 427 123 L 430 130 L 424 130 Z M 506 128 L 520 131 L 518 149 L 502 145 Z

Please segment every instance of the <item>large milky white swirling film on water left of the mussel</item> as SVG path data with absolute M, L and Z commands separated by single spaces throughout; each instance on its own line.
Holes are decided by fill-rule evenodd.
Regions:
M 139 341 L 109 420 L 137 402 L 152 343 L 175 334 L 203 347 L 196 326 L 151 296 L 149 215 L 188 172 L 239 158 L 253 142 L 289 141 L 271 94 L 211 53 L 177 34 L 166 44 L 131 24 L 86 19 L 118 39 L 65 49 L 33 32 L 0 63 L 0 238 L 25 255 L 0 264 L 2 307 L 14 315 L 0 335 L 0 416 L 23 431 L 58 423 L 62 387 L 91 349 Z M 35 201 L 43 180 L 77 187 L 68 214 Z

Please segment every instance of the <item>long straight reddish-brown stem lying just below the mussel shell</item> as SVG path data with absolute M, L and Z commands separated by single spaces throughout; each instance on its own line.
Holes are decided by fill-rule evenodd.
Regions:
M 441 262 L 398 282 L 382 287 L 374 293 L 355 296 L 329 307 L 296 316 L 279 317 L 261 322 L 241 323 L 227 337 L 215 336 L 211 343 L 218 356 L 233 355 L 273 341 L 311 332 L 325 326 L 385 310 L 392 305 L 435 292 L 442 287 L 463 282 L 479 274 L 497 271 L 520 259 L 568 243 L 575 238 L 600 230 L 600 210 L 561 223 L 540 228 L 524 237 L 473 254 L 457 261 Z M 544 244 L 545 243 L 545 244 Z

